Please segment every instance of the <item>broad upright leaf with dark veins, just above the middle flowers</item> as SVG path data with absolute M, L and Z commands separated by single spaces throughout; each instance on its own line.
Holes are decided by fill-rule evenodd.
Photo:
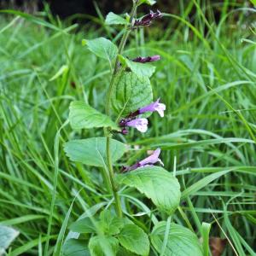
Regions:
M 135 73 L 122 73 L 113 83 L 111 104 L 115 113 L 125 116 L 153 102 L 152 88 L 147 77 Z

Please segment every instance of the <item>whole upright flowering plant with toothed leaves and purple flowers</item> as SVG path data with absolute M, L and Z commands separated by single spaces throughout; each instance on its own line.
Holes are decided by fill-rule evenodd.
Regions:
M 200 256 L 201 244 L 195 233 L 171 222 L 181 198 L 180 185 L 173 173 L 162 167 L 164 160 L 160 160 L 160 148 L 152 148 L 152 154 L 131 166 L 120 168 L 114 165 L 124 154 L 131 154 L 127 153 L 129 147 L 117 140 L 117 135 L 121 133 L 125 136 L 133 128 L 146 132 L 150 114 L 157 112 L 164 118 L 166 110 L 160 96 L 154 101 L 149 80 L 155 71 L 150 63 L 160 61 L 160 55 L 127 57 L 123 54 L 131 32 L 150 26 L 154 20 L 162 17 L 157 10 L 137 18 L 137 8 L 143 3 L 153 5 L 154 1 L 133 0 L 131 14 L 125 17 L 108 14 L 108 26 L 124 26 L 119 47 L 107 38 L 84 40 L 87 49 L 108 61 L 112 76 L 105 113 L 90 107 L 87 102 L 71 102 L 69 122 L 75 130 L 102 128 L 104 137 L 69 141 L 64 149 L 71 160 L 102 168 L 103 180 L 113 194 L 113 201 L 109 201 L 108 209 L 102 210 L 99 216 L 91 218 L 88 215 L 71 224 L 69 229 L 76 234 L 71 237 L 75 239 L 67 240 L 65 247 L 88 246 L 90 255 L 96 256 L 148 255 L 150 252 L 155 255 Z M 121 192 L 124 186 L 135 188 L 148 197 L 160 212 L 157 217 L 167 216 L 167 221 L 160 221 L 148 209 L 146 214 L 154 223 L 153 230 L 137 225 L 138 222 L 129 218 L 127 213 Z

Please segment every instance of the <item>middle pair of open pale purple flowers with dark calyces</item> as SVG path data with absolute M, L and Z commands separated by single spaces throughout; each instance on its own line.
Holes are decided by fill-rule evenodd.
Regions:
M 149 105 L 139 108 L 137 111 L 130 113 L 125 119 L 121 119 L 119 121 L 119 126 L 122 127 L 122 134 L 127 134 L 128 131 L 126 127 L 134 127 L 138 131 L 141 132 L 146 132 L 148 130 L 148 119 L 146 118 L 136 118 L 137 115 L 146 113 L 146 112 L 151 112 L 153 113 L 154 111 L 158 112 L 160 114 L 160 117 L 164 117 L 164 111 L 166 110 L 166 105 L 163 103 L 160 103 L 160 98 L 155 101 L 150 103 Z

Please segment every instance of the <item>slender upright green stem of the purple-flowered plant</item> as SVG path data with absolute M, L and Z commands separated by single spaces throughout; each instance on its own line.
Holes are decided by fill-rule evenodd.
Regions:
M 136 15 L 136 10 L 137 10 L 137 1 L 136 1 L 136 3 L 133 4 L 133 7 L 131 9 L 130 22 L 129 22 L 130 25 L 131 25 L 131 22 L 132 22 L 134 16 Z M 129 34 L 130 34 L 130 29 L 129 29 L 129 25 L 127 25 L 127 26 L 125 26 L 125 33 L 124 33 L 124 35 L 121 39 L 121 42 L 119 44 L 118 55 L 122 54 Z M 119 56 L 118 55 L 115 59 L 113 73 L 112 73 L 112 77 L 111 77 L 110 84 L 108 87 L 108 95 L 107 95 L 107 101 L 106 101 L 106 107 L 105 107 L 106 114 L 108 116 L 110 115 L 110 98 L 111 98 L 112 90 L 113 90 L 113 82 L 114 82 L 116 74 L 118 73 L 118 70 L 119 70 Z M 110 183 L 111 183 L 111 187 L 112 187 L 112 191 L 113 191 L 113 198 L 115 201 L 115 210 L 116 210 L 117 215 L 121 218 L 123 215 L 123 212 L 122 212 L 121 202 L 120 202 L 120 198 L 119 198 L 119 194 L 118 194 L 118 188 L 117 188 L 117 186 L 114 182 L 114 178 L 113 178 L 114 172 L 113 172 L 113 166 L 112 166 L 112 160 L 111 160 L 111 154 L 110 154 L 110 138 L 112 137 L 112 135 L 111 135 L 110 131 L 111 131 L 110 127 L 105 129 L 105 137 L 107 137 L 106 152 L 107 152 L 108 175 L 109 175 L 109 179 L 110 179 Z

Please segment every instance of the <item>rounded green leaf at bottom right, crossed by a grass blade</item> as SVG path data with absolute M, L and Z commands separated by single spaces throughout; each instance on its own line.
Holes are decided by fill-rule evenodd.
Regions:
M 154 248 L 160 253 L 166 233 L 166 221 L 154 226 L 150 239 Z M 163 256 L 202 256 L 201 244 L 195 234 L 178 224 L 170 224 L 168 241 Z

